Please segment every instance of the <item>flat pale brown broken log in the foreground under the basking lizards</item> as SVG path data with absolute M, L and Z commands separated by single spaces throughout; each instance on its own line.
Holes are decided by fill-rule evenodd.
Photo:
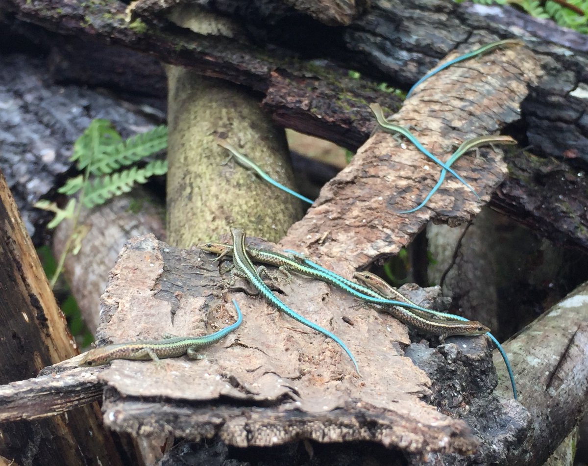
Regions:
M 228 285 L 229 275 L 219 274 L 226 264 L 219 268 L 213 258 L 169 247 L 152 235 L 132 239 L 123 249 L 102 297 L 99 344 L 164 333 L 211 333 L 235 321 L 233 298 L 244 320 L 207 348 L 204 360 L 117 360 L 99 372 L 109 427 L 148 435 L 169 426 L 181 437 L 219 434 L 239 447 L 306 437 L 370 440 L 419 454 L 477 450 L 479 441 L 465 422 L 449 414 L 473 397 L 487 397 L 496 383 L 485 337 L 449 339 L 445 352 L 416 344 L 415 358 L 431 360 L 433 352 L 452 361 L 439 364 L 440 372 L 445 367 L 460 374 L 444 389 L 432 388 L 427 373 L 405 355 L 410 338 L 404 325 L 322 282 L 300 277 L 288 282 L 271 271 L 281 299 L 348 345 L 358 360 L 359 377 L 338 345 L 250 295 L 245 282 Z M 429 290 L 424 302 L 435 296 Z M 441 401 L 443 396 L 451 401 Z M 445 414 L 427 404 L 432 397 L 450 405 Z M 524 418 L 524 411 L 513 411 L 506 400 L 490 397 L 485 403 L 493 415 Z M 518 430 L 523 424 L 515 425 Z

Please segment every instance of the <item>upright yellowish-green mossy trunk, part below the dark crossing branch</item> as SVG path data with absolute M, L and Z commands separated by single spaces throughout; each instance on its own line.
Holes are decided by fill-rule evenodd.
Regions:
M 277 241 L 302 217 L 300 201 L 254 177 L 220 137 L 295 189 L 283 129 L 239 86 L 168 66 L 168 239 L 190 247 L 242 227 Z

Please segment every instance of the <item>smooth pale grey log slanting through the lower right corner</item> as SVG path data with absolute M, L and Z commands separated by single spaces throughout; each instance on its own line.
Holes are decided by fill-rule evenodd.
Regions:
M 588 283 L 554 305 L 504 345 L 516 367 L 521 404 L 532 432 L 509 464 L 543 464 L 588 408 Z M 495 355 L 495 364 L 499 358 Z M 499 384 L 506 395 L 507 381 Z M 562 401 L 565 400 L 565 401 Z

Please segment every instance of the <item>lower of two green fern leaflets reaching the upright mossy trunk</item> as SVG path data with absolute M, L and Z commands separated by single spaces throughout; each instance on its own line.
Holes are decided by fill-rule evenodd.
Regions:
M 168 171 L 168 162 L 154 160 L 143 168 L 132 167 L 111 175 L 96 178 L 86 185 L 83 205 L 92 208 L 104 204 L 114 196 L 129 192 L 135 183 L 145 183 L 152 175 L 163 175 Z

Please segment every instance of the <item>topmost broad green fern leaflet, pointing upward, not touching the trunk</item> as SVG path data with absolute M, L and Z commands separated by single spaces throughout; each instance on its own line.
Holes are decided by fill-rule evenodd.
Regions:
M 72 162 L 77 161 L 78 169 L 83 170 L 119 142 L 121 142 L 121 136 L 112 128 L 111 122 L 102 118 L 93 119 L 88 128 L 74 142 L 74 151 L 69 159 Z

